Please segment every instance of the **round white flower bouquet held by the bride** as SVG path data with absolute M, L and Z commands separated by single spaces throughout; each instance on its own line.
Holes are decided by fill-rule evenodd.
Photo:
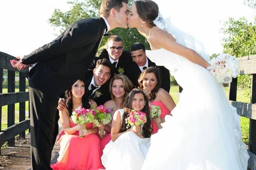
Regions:
M 207 69 L 210 70 L 218 83 L 230 83 L 232 77 L 236 78 L 239 75 L 238 60 L 229 54 L 219 54 L 210 60 L 210 65 Z

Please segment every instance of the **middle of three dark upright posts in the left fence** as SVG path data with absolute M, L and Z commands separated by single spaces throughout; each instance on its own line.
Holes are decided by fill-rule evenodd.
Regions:
M 9 71 L 8 70 L 8 93 L 14 93 L 15 92 L 15 71 Z M 14 125 L 15 123 L 15 113 L 14 113 L 14 104 L 8 105 L 8 111 L 7 111 L 7 127 L 10 127 Z M 8 146 L 14 146 L 14 137 L 10 140 L 8 140 L 7 145 Z

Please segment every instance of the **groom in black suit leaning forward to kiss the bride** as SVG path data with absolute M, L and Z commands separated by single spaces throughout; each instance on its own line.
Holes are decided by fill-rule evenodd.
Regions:
M 127 27 L 128 0 L 102 0 L 100 18 L 79 20 L 55 40 L 38 48 L 13 67 L 29 68 L 31 162 L 34 170 L 50 168 L 58 96 L 90 67 L 102 36 Z

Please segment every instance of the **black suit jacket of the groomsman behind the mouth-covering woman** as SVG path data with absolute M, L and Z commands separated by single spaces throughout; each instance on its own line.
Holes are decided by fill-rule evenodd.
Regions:
M 151 66 L 156 66 L 156 65 L 155 65 L 154 62 L 152 62 L 148 58 L 148 67 L 151 67 Z M 170 91 L 170 86 L 171 86 L 170 72 L 164 66 L 157 66 L 157 67 L 161 71 L 160 72 L 160 76 L 161 76 L 161 80 L 162 80 L 161 87 L 163 89 L 165 89 L 167 92 L 169 92 Z M 132 62 L 131 65 L 128 68 L 127 73 L 128 73 L 127 76 L 131 79 L 131 81 L 133 82 L 133 85 L 138 87 L 139 86 L 138 79 L 139 79 L 139 76 L 141 74 L 139 66 L 135 62 Z

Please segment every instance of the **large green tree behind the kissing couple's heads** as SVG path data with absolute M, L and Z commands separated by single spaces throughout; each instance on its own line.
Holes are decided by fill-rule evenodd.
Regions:
M 82 2 L 75 0 L 67 3 L 71 5 L 69 11 L 62 12 L 59 9 L 55 9 L 52 17 L 48 20 L 51 26 L 54 27 L 54 29 L 59 29 L 60 32 L 63 32 L 70 24 L 78 20 L 99 17 L 101 0 L 84 0 Z M 133 3 L 133 1 L 130 1 L 129 5 L 131 5 L 131 3 Z M 136 29 L 117 28 L 111 30 L 110 33 L 123 38 L 123 45 L 126 51 L 130 51 L 131 45 L 135 42 L 141 42 L 145 45 L 146 49 L 150 49 L 149 44 L 145 42 L 145 38 L 140 35 Z M 108 37 L 104 37 L 99 47 L 104 46 L 107 39 Z

